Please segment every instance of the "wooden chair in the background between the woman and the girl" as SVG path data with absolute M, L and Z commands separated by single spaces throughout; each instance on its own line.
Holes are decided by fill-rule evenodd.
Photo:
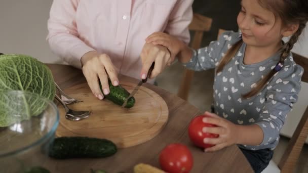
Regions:
M 190 43 L 190 47 L 193 49 L 199 49 L 203 38 L 203 33 L 211 29 L 212 19 L 202 16 L 200 14 L 194 14 L 193 21 L 189 25 L 189 30 L 195 32 L 193 41 Z M 184 69 L 183 79 L 178 91 L 178 97 L 187 101 L 188 93 L 191 85 L 191 80 L 194 77 L 194 71 Z

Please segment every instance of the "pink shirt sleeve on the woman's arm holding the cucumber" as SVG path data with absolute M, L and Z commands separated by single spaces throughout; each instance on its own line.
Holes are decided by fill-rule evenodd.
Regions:
M 81 68 L 81 57 L 93 48 L 79 38 L 75 14 L 79 0 L 54 0 L 48 20 L 47 41 L 51 51 L 68 64 Z

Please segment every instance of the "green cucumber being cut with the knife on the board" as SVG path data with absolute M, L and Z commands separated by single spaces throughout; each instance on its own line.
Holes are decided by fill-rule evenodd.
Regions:
M 122 106 L 125 100 L 129 97 L 130 93 L 127 90 L 125 90 L 125 88 L 123 88 L 121 85 L 113 86 L 109 78 L 108 78 L 108 83 L 109 83 L 110 93 L 108 95 L 104 95 L 105 98 L 119 106 Z M 100 81 L 99 81 L 99 88 L 103 93 Z M 135 102 L 136 102 L 135 98 L 131 97 L 128 99 L 125 107 L 131 108 L 134 106 Z

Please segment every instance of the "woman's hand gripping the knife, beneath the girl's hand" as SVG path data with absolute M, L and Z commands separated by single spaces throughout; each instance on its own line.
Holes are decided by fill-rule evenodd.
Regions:
M 155 62 L 155 66 L 149 78 L 158 76 L 165 69 L 165 67 L 170 66 L 172 62 L 170 52 L 166 47 L 161 45 L 145 43 L 142 48 L 140 57 L 142 61 L 142 79 L 146 78 L 147 72 L 153 62 Z

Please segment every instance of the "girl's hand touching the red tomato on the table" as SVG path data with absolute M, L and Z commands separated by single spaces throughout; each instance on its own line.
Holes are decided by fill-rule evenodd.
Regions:
M 203 122 L 215 124 L 218 127 L 203 127 L 204 133 L 218 134 L 218 138 L 204 138 L 203 142 L 206 144 L 214 144 L 215 146 L 206 148 L 205 152 L 212 152 L 220 150 L 226 146 L 238 144 L 238 126 L 220 116 L 205 112 L 206 115 L 211 117 L 203 118 Z

